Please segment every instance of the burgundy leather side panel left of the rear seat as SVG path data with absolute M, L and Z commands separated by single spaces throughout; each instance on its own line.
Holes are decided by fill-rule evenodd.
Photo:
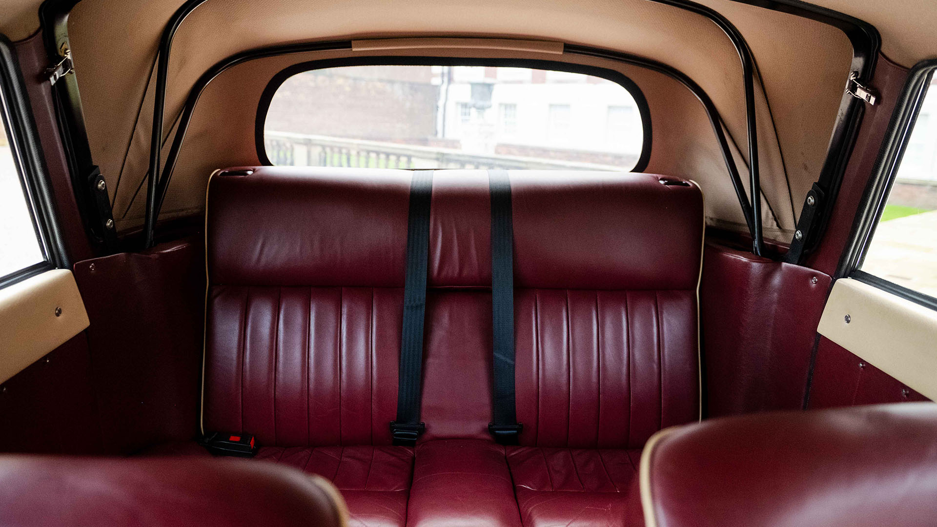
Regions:
M 108 452 L 199 431 L 202 254 L 201 238 L 190 238 L 75 264 Z

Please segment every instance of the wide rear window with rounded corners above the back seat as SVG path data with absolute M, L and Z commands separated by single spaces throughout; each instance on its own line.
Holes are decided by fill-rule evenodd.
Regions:
M 582 73 L 350 66 L 279 85 L 264 121 L 274 165 L 631 171 L 642 112 L 622 84 Z

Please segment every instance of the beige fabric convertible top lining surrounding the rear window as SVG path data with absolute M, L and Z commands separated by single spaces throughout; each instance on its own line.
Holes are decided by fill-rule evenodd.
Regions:
M 756 86 L 756 105 L 762 190 L 764 203 L 770 205 L 765 207 L 766 234 L 786 239 L 793 232 L 800 204 L 823 166 L 849 74 L 851 44 L 839 29 L 806 18 L 732 0 L 701 3 L 736 24 L 755 58 L 761 82 Z M 143 195 L 138 189 L 146 177 L 156 48 L 165 23 L 181 4 L 182 0 L 82 0 L 68 19 L 89 142 L 123 231 L 141 224 Z M 878 25 L 885 53 L 894 53 L 892 58 L 905 65 L 928 56 L 928 50 L 937 51 L 937 34 L 918 31 L 921 24 L 930 29 L 937 23 L 937 9 L 932 8 L 930 0 L 905 3 L 906 9 L 915 13 L 913 22 L 895 19 L 899 9 L 875 0 L 821 0 L 818 4 Z M 29 0 L 12 0 L 10 12 L 27 13 L 29 6 Z M 32 6 L 37 8 L 36 2 Z M 28 26 L 24 22 L 28 18 L 21 17 L 18 23 L 10 18 L 2 23 L 24 36 L 22 28 Z M 924 22 L 927 20 L 930 25 Z M 908 31 L 899 30 L 904 26 Z M 107 45 L 102 45 L 102 36 L 110 36 Z M 417 46 L 411 38 L 427 38 L 424 42 L 449 38 L 449 45 L 454 47 L 440 51 L 435 49 L 439 43 Z M 485 38 L 487 43 L 479 45 L 474 38 Z M 275 8 L 255 0 L 207 0 L 186 18 L 173 42 L 164 123 L 167 136 L 191 86 L 218 61 L 276 44 L 336 39 L 355 40 L 355 50 L 350 53 L 361 55 L 534 56 L 582 63 L 582 57 L 558 53 L 559 46 L 567 43 L 662 62 L 692 78 L 712 98 L 730 142 L 736 145 L 742 178 L 747 180 L 743 83 L 735 48 L 706 17 L 648 0 L 283 0 Z M 283 60 L 251 61 L 222 77 L 236 71 L 242 83 L 253 86 L 269 80 L 270 65 L 285 68 L 290 61 L 302 60 L 310 57 L 291 55 Z M 615 68 L 628 69 L 636 80 L 634 68 Z M 670 112 L 682 108 L 685 94 L 678 92 L 686 90 L 676 83 L 651 83 L 647 80 L 650 77 L 643 76 L 644 81 L 636 82 L 659 108 L 654 125 L 660 122 L 663 126 L 662 113 L 668 108 Z M 221 77 L 214 83 L 220 81 Z M 666 90 L 662 89 L 664 85 L 668 86 Z M 200 101 L 206 108 L 215 104 L 207 98 L 209 91 Z M 226 108 L 220 112 L 197 108 L 196 121 L 219 118 L 219 113 L 225 111 L 247 119 L 247 111 L 256 110 L 257 100 L 244 95 L 245 88 L 239 85 L 231 85 L 227 94 L 217 92 L 217 97 L 227 98 Z M 722 191 L 728 184 L 724 165 L 699 158 L 700 152 L 711 150 L 711 130 L 697 129 L 700 127 L 689 121 L 684 131 L 692 129 L 698 135 L 673 138 L 672 143 L 684 143 L 683 148 L 662 153 L 692 159 L 697 164 L 652 159 L 655 162 L 648 170 L 663 172 L 664 168 L 676 170 L 675 165 L 682 165 L 679 168 L 686 172 L 679 174 L 699 181 L 710 196 L 710 224 L 744 230 L 739 211 L 735 210 L 738 204 L 734 193 Z M 244 123 L 238 124 L 243 129 Z M 226 152 L 227 160 L 217 159 L 220 164 L 256 158 L 253 133 L 248 134 L 250 144 L 235 149 L 231 138 L 222 140 L 217 129 L 214 133 L 193 133 L 196 128 L 192 128 L 186 136 L 185 150 L 191 154 L 180 159 L 163 218 L 201 209 L 204 178 L 216 166 L 204 172 L 205 163 L 196 161 L 196 151 L 203 156 L 219 149 Z M 658 135 L 655 133 L 655 140 Z M 661 139 L 655 149 L 666 141 L 671 140 Z M 728 188 L 731 190 L 731 186 Z

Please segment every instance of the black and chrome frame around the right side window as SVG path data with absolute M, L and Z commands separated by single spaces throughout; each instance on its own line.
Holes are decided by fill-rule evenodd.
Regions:
M 895 105 L 885 133 L 885 141 L 859 203 L 849 246 L 840 258 L 837 278 L 851 278 L 905 298 L 915 304 L 937 310 L 937 298 L 909 289 L 862 270 L 866 253 L 875 236 L 879 219 L 885 211 L 888 197 L 898 176 L 904 153 L 911 140 L 924 98 L 927 97 L 931 78 L 937 72 L 937 59 L 924 60 L 908 73 L 901 95 Z M 937 233 L 935 233 L 937 235 Z

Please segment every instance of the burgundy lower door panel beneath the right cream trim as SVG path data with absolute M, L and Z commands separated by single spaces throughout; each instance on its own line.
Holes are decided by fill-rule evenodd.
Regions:
M 930 400 L 881 369 L 820 337 L 808 408 Z

